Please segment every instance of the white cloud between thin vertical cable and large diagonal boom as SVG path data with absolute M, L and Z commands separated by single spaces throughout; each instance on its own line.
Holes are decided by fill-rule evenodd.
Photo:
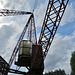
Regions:
M 46 0 L 35 10 L 35 22 L 37 27 L 41 27 L 46 13 L 48 1 Z

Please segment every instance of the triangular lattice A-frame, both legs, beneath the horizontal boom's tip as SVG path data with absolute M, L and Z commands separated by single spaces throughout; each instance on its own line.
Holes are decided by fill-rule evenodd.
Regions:
M 22 33 L 21 33 L 21 36 L 13 50 L 13 53 L 11 55 L 11 58 L 9 60 L 9 66 L 12 65 L 13 63 L 13 60 L 15 59 L 16 57 L 16 54 L 17 52 L 19 51 L 19 45 L 20 45 L 20 42 L 22 41 L 22 39 L 24 38 L 25 34 L 26 34 L 26 31 L 28 29 L 28 27 L 32 28 L 32 30 L 29 32 L 29 40 L 33 43 L 33 44 L 36 44 L 37 43 L 37 39 L 36 39 L 36 29 L 35 29 L 35 22 L 34 22 L 34 16 L 33 14 L 30 16 L 27 24 L 25 25 L 25 28 L 23 29 Z M 30 36 L 31 36 L 31 39 L 30 39 Z M 34 37 L 33 37 L 34 36 Z

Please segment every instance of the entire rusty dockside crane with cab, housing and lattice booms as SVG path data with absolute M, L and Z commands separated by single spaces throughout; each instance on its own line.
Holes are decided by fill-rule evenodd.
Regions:
M 69 0 L 49 0 L 38 43 L 34 14 L 32 12 L 8 9 L 0 10 L 0 16 L 30 15 L 13 50 L 7 72 L 24 75 L 43 75 L 44 60 L 50 49 L 68 2 Z M 26 33 L 28 34 L 28 39 L 23 40 Z M 18 60 L 15 62 L 15 65 L 26 67 L 28 69 L 27 73 L 10 69 L 17 53 Z

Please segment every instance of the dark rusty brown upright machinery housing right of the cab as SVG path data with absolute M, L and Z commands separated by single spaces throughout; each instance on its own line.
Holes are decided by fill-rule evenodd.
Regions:
M 41 45 L 32 46 L 32 60 L 29 72 L 42 75 L 44 70 L 43 52 Z

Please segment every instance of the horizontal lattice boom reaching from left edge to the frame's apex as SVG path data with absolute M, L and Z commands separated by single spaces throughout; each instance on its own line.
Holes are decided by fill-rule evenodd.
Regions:
M 15 15 L 25 15 L 25 14 L 32 14 L 32 13 L 25 11 L 8 10 L 8 9 L 0 10 L 0 16 L 15 16 Z

